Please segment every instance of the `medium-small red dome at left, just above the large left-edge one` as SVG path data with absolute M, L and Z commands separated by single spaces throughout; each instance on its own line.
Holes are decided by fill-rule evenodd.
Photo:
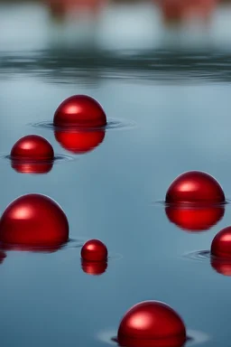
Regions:
M 23 161 L 52 160 L 54 151 L 42 136 L 28 135 L 20 138 L 11 150 L 11 159 Z

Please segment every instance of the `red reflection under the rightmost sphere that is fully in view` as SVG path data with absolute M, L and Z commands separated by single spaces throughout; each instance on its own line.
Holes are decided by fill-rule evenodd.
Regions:
M 180 229 L 199 232 L 211 229 L 221 220 L 225 213 L 224 206 L 201 208 L 169 205 L 165 208 L 168 219 Z

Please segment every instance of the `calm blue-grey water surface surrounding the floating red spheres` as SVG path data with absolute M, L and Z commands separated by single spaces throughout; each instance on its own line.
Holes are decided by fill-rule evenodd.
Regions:
M 188 170 L 214 175 L 231 199 L 228 14 L 228 6 L 218 7 L 199 35 L 164 27 L 153 5 L 112 5 L 97 21 L 77 24 L 54 22 L 40 4 L 0 5 L 1 155 L 30 133 L 50 140 L 57 155 L 72 155 L 51 129 L 30 125 L 51 121 L 72 94 L 89 94 L 107 117 L 135 124 L 109 129 L 94 150 L 49 174 L 18 174 L 1 159 L 0 211 L 21 194 L 47 194 L 66 211 L 75 240 L 48 254 L 5 253 L 3 346 L 103 346 L 125 311 L 149 299 L 171 305 L 189 331 L 205 333 L 199 346 L 228 345 L 231 278 L 209 258 L 184 256 L 209 249 L 231 224 L 230 205 L 210 230 L 187 232 L 154 203 Z M 99 277 L 83 272 L 74 247 L 90 238 L 104 241 L 112 256 Z

